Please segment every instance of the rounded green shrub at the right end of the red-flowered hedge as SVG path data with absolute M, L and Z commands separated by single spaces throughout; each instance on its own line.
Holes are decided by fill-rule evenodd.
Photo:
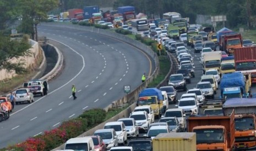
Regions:
M 88 120 L 88 125 L 100 124 L 104 121 L 106 117 L 106 111 L 101 108 L 90 109 L 81 114 L 80 118 L 85 118 Z

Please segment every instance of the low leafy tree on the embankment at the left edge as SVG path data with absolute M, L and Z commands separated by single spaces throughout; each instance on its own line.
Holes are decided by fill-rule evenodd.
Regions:
M 8 71 L 15 71 L 17 74 L 26 72 L 26 69 L 23 67 L 23 60 L 19 62 L 11 62 L 10 60 L 31 54 L 28 38 L 23 37 L 20 40 L 10 40 L 9 37 L 4 37 L 0 34 L 0 39 L 0 70 L 7 69 Z

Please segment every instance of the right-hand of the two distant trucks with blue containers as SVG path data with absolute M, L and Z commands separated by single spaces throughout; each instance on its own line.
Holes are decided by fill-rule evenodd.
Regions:
M 135 19 L 135 7 L 123 6 L 117 8 L 118 14 L 122 14 L 123 22 L 127 20 Z

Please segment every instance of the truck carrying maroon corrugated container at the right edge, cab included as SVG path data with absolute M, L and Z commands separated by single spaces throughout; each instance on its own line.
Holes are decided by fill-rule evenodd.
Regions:
M 256 47 L 241 47 L 234 50 L 235 69 L 250 73 L 252 83 L 256 83 Z

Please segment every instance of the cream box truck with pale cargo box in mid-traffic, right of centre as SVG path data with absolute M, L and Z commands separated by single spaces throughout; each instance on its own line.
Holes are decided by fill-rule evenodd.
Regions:
M 203 54 L 203 74 L 208 69 L 220 70 L 221 51 L 205 52 Z

